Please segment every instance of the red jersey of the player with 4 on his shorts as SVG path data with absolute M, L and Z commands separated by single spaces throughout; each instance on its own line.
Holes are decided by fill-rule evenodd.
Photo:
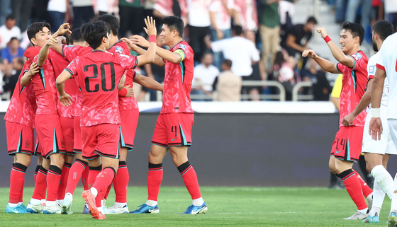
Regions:
M 187 42 L 182 40 L 170 49 L 180 52 L 182 62 L 172 63 L 164 59 L 165 77 L 160 113 L 193 112 L 190 103 L 191 81 L 193 80 L 194 53 Z

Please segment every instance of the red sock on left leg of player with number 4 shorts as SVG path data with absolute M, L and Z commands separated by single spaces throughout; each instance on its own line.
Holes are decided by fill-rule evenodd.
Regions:
M 157 205 L 157 198 L 159 197 L 160 185 L 162 182 L 162 163 L 149 163 L 149 173 L 147 175 L 147 202 L 149 206 Z M 150 201 L 149 201 L 150 200 Z M 153 205 L 154 204 L 154 205 Z

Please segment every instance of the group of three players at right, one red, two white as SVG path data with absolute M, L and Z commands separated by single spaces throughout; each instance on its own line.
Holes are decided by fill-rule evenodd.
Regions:
M 389 156 L 397 154 L 397 34 L 393 30 L 388 21 L 374 25 L 372 42 L 376 54 L 369 59 L 360 50 L 364 28 L 350 22 L 342 26 L 340 47 L 324 28 L 317 28 L 339 63 L 318 57 L 313 50 L 302 54 L 313 58 L 325 71 L 343 74 L 339 131 L 332 144 L 329 166 L 343 180 L 357 205 L 357 213 L 346 219 L 378 223 L 387 194 L 391 199 L 388 226 L 397 225 L 397 175 L 393 180 L 386 170 Z M 361 152 L 365 154 L 367 170 L 375 179 L 374 190 L 352 169 Z

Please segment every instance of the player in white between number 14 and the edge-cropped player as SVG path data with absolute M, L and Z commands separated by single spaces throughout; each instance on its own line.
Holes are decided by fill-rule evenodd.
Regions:
M 374 51 L 377 52 L 386 37 L 393 34 L 393 25 L 389 21 L 378 21 L 375 23 L 372 30 L 372 43 Z M 376 72 L 376 62 L 379 60 L 379 52 L 374 54 L 368 60 L 367 72 L 368 72 L 368 83 L 367 91 L 365 91 L 362 99 L 353 112 L 343 117 L 342 124 L 350 125 L 353 120 L 371 103 L 371 87 L 372 81 Z M 387 126 L 387 98 L 388 98 L 388 79 L 384 81 L 384 88 L 381 98 L 381 122 L 384 123 L 384 139 L 373 140 L 369 135 L 369 121 L 371 120 L 370 108 L 367 108 L 367 119 L 364 124 L 364 134 L 362 137 L 362 152 L 365 153 L 365 161 L 367 163 L 367 170 L 375 178 L 374 192 L 373 192 L 373 204 L 371 211 L 362 222 L 366 223 L 378 223 L 379 212 L 381 211 L 382 204 L 384 202 L 385 193 L 391 199 L 393 195 L 393 177 L 386 170 L 387 161 L 391 154 L 397 154 L 397 149 L 391 139 L 391 134 Z

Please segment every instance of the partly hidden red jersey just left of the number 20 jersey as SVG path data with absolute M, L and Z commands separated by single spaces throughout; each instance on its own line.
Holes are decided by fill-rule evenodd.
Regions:
M 62 49 L 61 50 L 62 50 L 62 56 L 65 57 L 65 59 L 67 59 L 67 62 L 72 62 L 77 57 L 83 56 L 84 54 L 88 54 L 88 53 L 92 52 L 92 48 L 91 47 L 82 47 L 82 46 L 73 46 L 73 45 L 62 45 Z M 80 115 L 82 113 L 82 100 L 83 100 L 82 92 L 79 91 L 79 86 L 77 85 L 77 81 L 75 80 L 74 76 L 72 76 L 72 80 L 67 80 L 67 81 L 74 81 L 74 84 L 75 84 L 76 89 L 77 89 L 76 96 L 75 97 L 72 96 L 72 98 L 74 100 L 72 102 L 72 103 L 74 103 L 73 104 L 72 116 L 80 117 Z M 65 83 L 65 91 L 67 93 L 66 83 Z M 71 95 L 71 94 L 69 94 L 69 95 Z

